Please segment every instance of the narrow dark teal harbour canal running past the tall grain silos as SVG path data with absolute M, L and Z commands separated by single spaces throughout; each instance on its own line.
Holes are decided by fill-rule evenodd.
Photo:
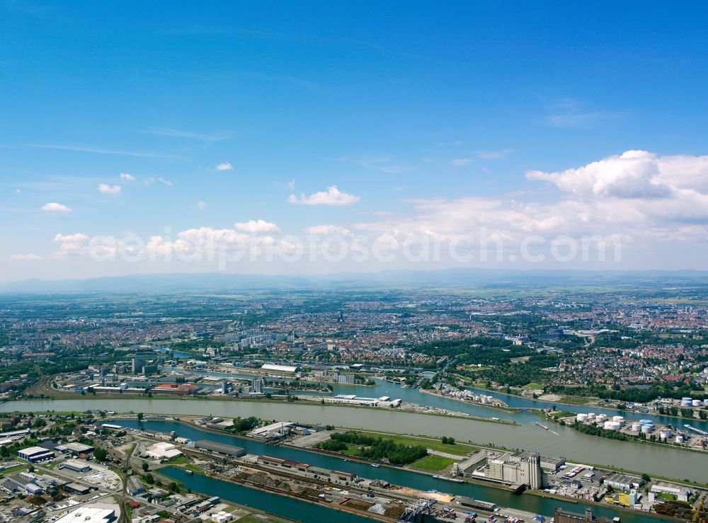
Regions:
M 472 483 L 452 483 L 450 481 L 438 480 L 433 478 L 432 476 L 418 474 L 403 469 L 389 467 L 379 467 L 378 469 L 375 469 L 371 466 L 367 466 L 366 464 L 360 464 L 351 461 L 348 463 L 343 463 L 341 459 L 337 459 L 332 456 L 327 456 L 325 454 L 315 454 L 313 452 L 294 449 L 292 447 L 274 447 L 261 442 L 253 441 L 251 439 L 240 438 L 227 434 L 215 434 L 213 432 L 207 432 L 205 430 L 199 429 L 198 427 L 194 427 L 192 425 L 185 425 L 184 423 L 178 423 L 175 421 L 146 420 L 141 423 L 137 420 L 118 420 L 113 423 L 122 425 L 124 427 L 142 427 L 149 430 L 158 430 L 160 432 L 175 431 L 178 436 L 187 437 L 193 441 L 197 439 L 210 439 L 211 441 L 215 442 L 232 444 L 238 447 L 245 447 L 246 451 L 249 452 L 249 454 L 269 454 L 271 456 L 294 459 L 295 461 L 302 461 L 303 463 L 307 463 L 313 466 L 319 466 L 324 469 L 345 470 L 348 472 L 355 473 L 357 476 L 360 476 L 362 478 L 381 479 L 384 481 L 389 481 L 389 483 L 393 483 L 394 485 L 406 485 L 411 488 L 416 488 L 418 490 L 423 491 L 435 489 L 440 490 L 441 492 L 450 493 L 452 495 L 464 495 L 470 498 L 495 502 L 500 507 L 513 507 L 518 510 L 534 512 L 535 514 L 541 514 L 547 517 L 553 515 L 553 511 L 556 509 L 556 507 L 571 510 L 572 512 L 583 512 L 585 510 L 585 506 L 582 503 L 576 504 L 571 502 L 564 502 L 551 498 L 542 498 L 541 496 L 532 494 L 515 495 L 503 488 L 486 487 L 484 485 L 474 485 Z M 190 477 L 186 474 L 183 474 L 183 476 L 184 478 Z M 198 476 L 195 475 L 191 477 L 197 478 Z M 182 478 L 179 479 L 180 481 L 184 481 Z M 224 485 L 228 485 L 229 489 L 232 486 L 231 483 L 222 483 L 224 483 Z M 193 490 L 200 490 L 197 485 L 190 484 L 189 481 L 185 481 L 185 484 L 188 487 L 191 487 Z M 205 490 L 201 491 L 205 492 Z M 213 490 L 206 490 L 206 492 L 212 493 Z M 246 498 L 240 497 L 241 494 L 244 493 L 246 494 Z M 238 491 L 232 496 L 226 495 L 224 497 L 234 502 L 244 502 L 245 500 L 247 503 L 253 505 L 253 498 L 251 498 L 250 493 L 251 490 L 246 489 L 244 492 Z M 302 507 L 303 510 L 307 510 L 307 508 L 311 506 L 305 502 L 300 503 L 304 505 L 304 507 Z M 259 508 L 272 512 L 273 507 L 274 505 L 265 505 Z M 618 515 L 618 512 L 615 512 L 614 510 L 608 507 L 593 507 L 593 511 L 596 515 L 603 515 L 610 518 L 614 517 L 615 515 Z M 619 515 L 622 517 L 622 522 L 624 523 L 658 521 L 658 519 L 656 518 L 636 515 L 634 513 L 629 512 L 621 512 L 619 513 Z M 300 516 L 298 515 L 295 519 L 300 519 Z M 309 515 L 309 517 L 303 517 L 302 519 L 304 519 L 305 521 L 323 520 L 315 519 L 314 514 Z

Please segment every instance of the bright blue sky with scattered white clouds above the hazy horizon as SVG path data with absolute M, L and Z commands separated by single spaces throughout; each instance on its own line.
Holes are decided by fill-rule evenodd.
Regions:
M 599 234 L 623 242 L 613 268 L 705 268 L 705 6 L 231 4 L 0 1 L 0 279 L 213 270 L 84 247 L 316 226 L 484 227 L 505 252 Z M 251 220 L 269 225 L 234 229 Z

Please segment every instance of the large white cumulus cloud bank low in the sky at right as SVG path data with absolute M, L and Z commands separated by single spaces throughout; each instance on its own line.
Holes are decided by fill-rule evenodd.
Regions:
M 409 200 L 407 214 L 354 224 L 372 234 L 432 236 L 443 241 L 479 234 L 520 242 L 529 234 L 652 241 L 708 237 L 708 156 L 626 151 L 564 171 L 529 171 L 555 185 L 556 202 L 511 197 Z

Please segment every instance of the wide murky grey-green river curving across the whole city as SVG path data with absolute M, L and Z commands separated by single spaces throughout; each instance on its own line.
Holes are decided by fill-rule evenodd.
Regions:
M 467 406 L 467 404 L 459 403 L 459 406 Z M 452 436 L 464 442 L 493 443 L 510 449 L 533 450 L 547 456 L 564 456 L 588 464 L 615 466 L 646 472 L 650 475 L 687 478 L 708 483 L 708 456 L 705 454 L 651 444 L 620 442 L 615 439 L 585 435 L 560 425 L 554 425 L 552 432 L 533 424 L 503 425 L 464 418 L 409 413 L 396 409 L 203 399 L 76 398 L 75 400 L 9 401 L 0 405 L 1 412 L 84 411 L 97 408 L 116 412 L 177 416 L 209 414 L 221 417 L 247 417 L 253 415 L 267 420 L 293 420 L 434 437 Z M 505 413 L 499 411 L 499 414 L 501 418 Z

